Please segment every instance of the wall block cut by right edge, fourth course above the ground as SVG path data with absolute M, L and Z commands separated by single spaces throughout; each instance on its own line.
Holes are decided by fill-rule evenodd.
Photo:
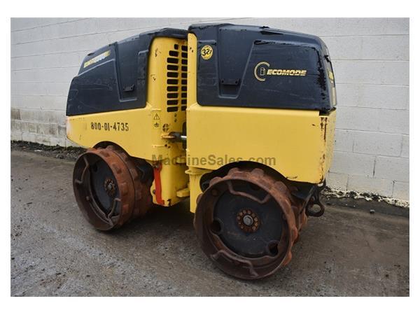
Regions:
M 379 131 L 395 134 L 409 134 L 409 111 L 381 109 Z

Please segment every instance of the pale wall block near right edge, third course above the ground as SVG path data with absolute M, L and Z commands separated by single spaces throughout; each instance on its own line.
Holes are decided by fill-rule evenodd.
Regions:
M 383 132 L 354 132 L 355 153 L 400 156 L 402 136 Z

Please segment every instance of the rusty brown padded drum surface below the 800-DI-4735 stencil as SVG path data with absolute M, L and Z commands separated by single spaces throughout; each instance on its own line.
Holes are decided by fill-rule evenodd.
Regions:
M 90 168 L 100 160 L 111 169 L 113 179 L 104 181 L 106 193 L 113 199 L 111 210 L 104 211 L 94 200 Z M 98 179 L 99 180 L 99 179 Z M 137 164 L 116 146 L 91 148 L 76 161 L 73 172 L 73 187 L 80 210 L 98 230 L 119 228 L 133 218 L 144 216 L 152 206 L 150 187 L 152 181 L 140 181 Z M 116 195 L 116 188 L 120 191 Z M 117 205 L 120 204 L 120 212 Z

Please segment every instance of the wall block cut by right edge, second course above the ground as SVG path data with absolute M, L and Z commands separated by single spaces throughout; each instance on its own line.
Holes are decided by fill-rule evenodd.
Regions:
M 374 177 L 393 181 L 409 181 L 409 159 L 378 156 Z

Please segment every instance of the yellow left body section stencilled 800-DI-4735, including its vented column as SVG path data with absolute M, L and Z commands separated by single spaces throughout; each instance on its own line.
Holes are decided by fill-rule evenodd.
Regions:
M 109 141 L 121 146 L 136 158 L 143 158 L 151 165 L 162 162 L 160 172 L 163 205 L 176 204 L 183 198 L 176 196 L 176 191 L 188 187 L 186 165 L 163 163 L 174 157 L 185 157 L 181 144 L 174 144 L 165 136 L 170 132 L 181 132 L 186 123 L 186 111 L 181 111 L 181 93 L 176 111 L 167 111 L 167 58 L 169 51 L 178 50 L 186 41 L 177 38 L 155 38 L 151 45 L 148 59 L 147 102 L 143 109 L 130 109 L 94 113 L 67 118 L 67 137 L 79 144 L 91 148 L 99 142 Z M 179 58 L 181 69 L 181 58 Z M 174 86 L 181 91 L 181 71 Z M 185 160 L 185 158 L 184 158 Z M 155 191 L 155 183 L 151 187 Z M 153 201 L 156 203 L 154 193 Z

